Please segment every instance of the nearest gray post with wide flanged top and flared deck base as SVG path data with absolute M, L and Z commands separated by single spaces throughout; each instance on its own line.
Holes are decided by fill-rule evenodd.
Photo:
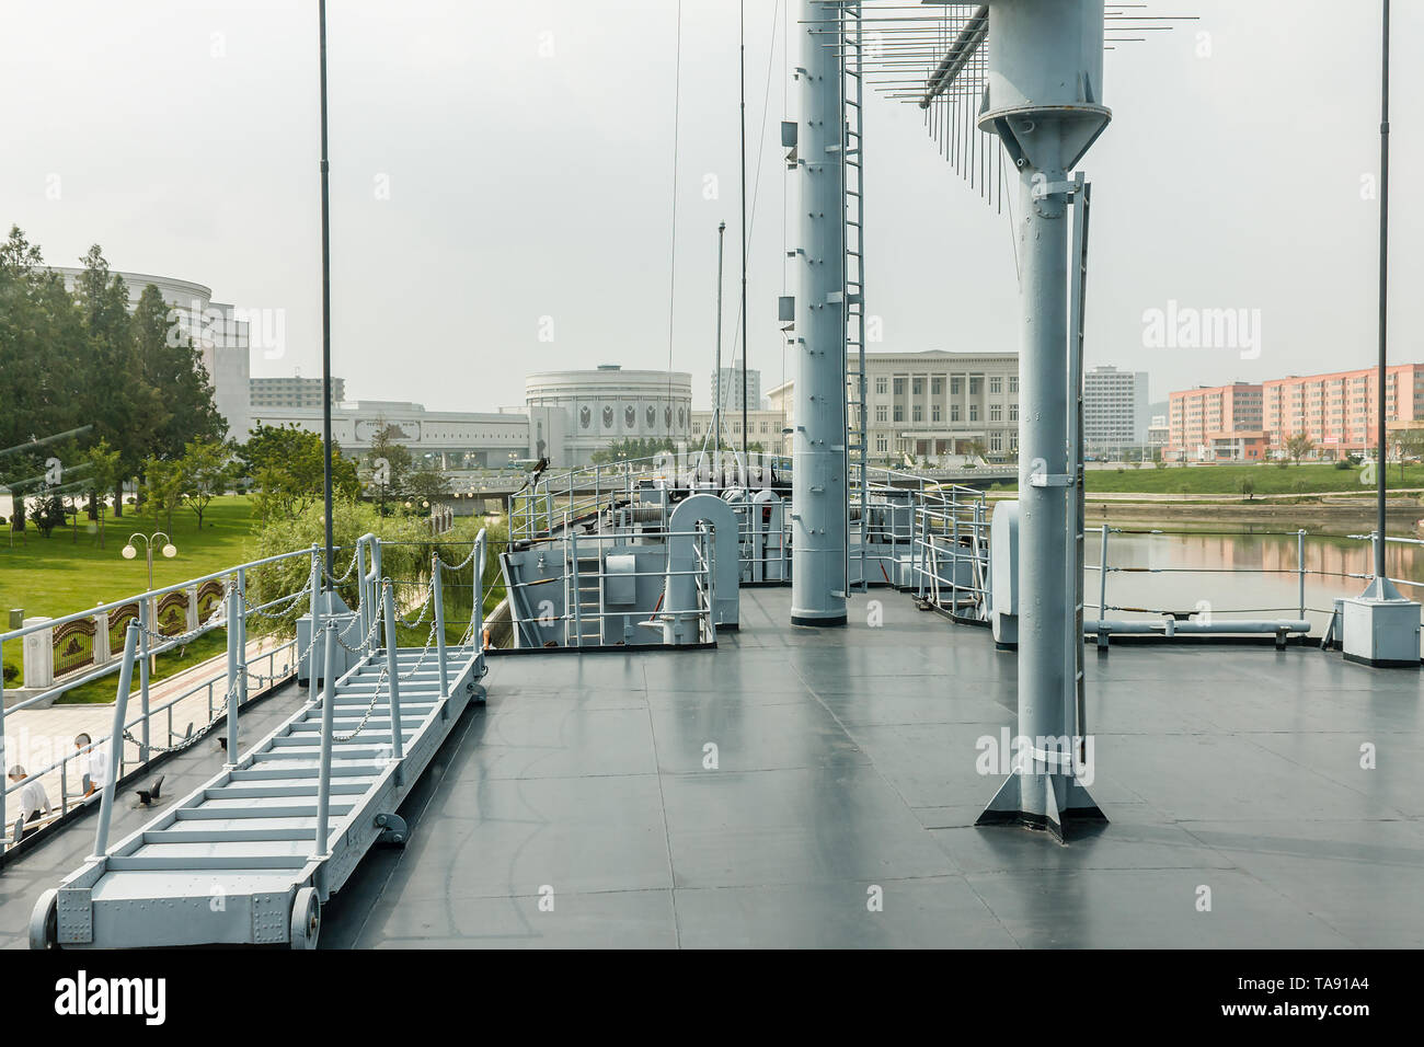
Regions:
M 998 134 L 1020 178 L 1018 735 L 1021 762 L 980 825 L 1027 825 L 1062 839 L 1102 821 L 1074 766 L 1074 614 L 1065 584 L 1069 487 L 1067 172 L 1111 120 L 1102 98 L 1102 0 L 991 0 L 980 128 Z M 1081 638 L 1075 638 L 1081 642 Z M 1079 765 L 1081 766 L 1081 765 Z

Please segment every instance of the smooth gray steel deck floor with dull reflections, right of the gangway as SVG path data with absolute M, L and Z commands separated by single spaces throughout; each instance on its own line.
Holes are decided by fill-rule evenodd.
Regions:
M 1418 672 L 1089 650 L 1112 821 L 1061 848 L 973 828 L 1014 655 L 870 598 L 880 628 L 866 597 L 817 631 L 789 590 L 745 588 L 716 651 L 491 658 L 488 705 L 402 808 L 409 846 L 367 856 L 322 946 L 1424 944 Z

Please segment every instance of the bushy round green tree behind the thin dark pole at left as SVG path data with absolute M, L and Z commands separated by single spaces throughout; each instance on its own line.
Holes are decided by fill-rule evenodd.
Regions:
M 258 494 L 259 520 L 295 519 L 322 500 L 325 452 L 322 437 L 295 424 L 258 426 L 238 449 L 242 474 Z M 332 447 L 332 491 L 337 497 L 360 494 L 356 463 Z

